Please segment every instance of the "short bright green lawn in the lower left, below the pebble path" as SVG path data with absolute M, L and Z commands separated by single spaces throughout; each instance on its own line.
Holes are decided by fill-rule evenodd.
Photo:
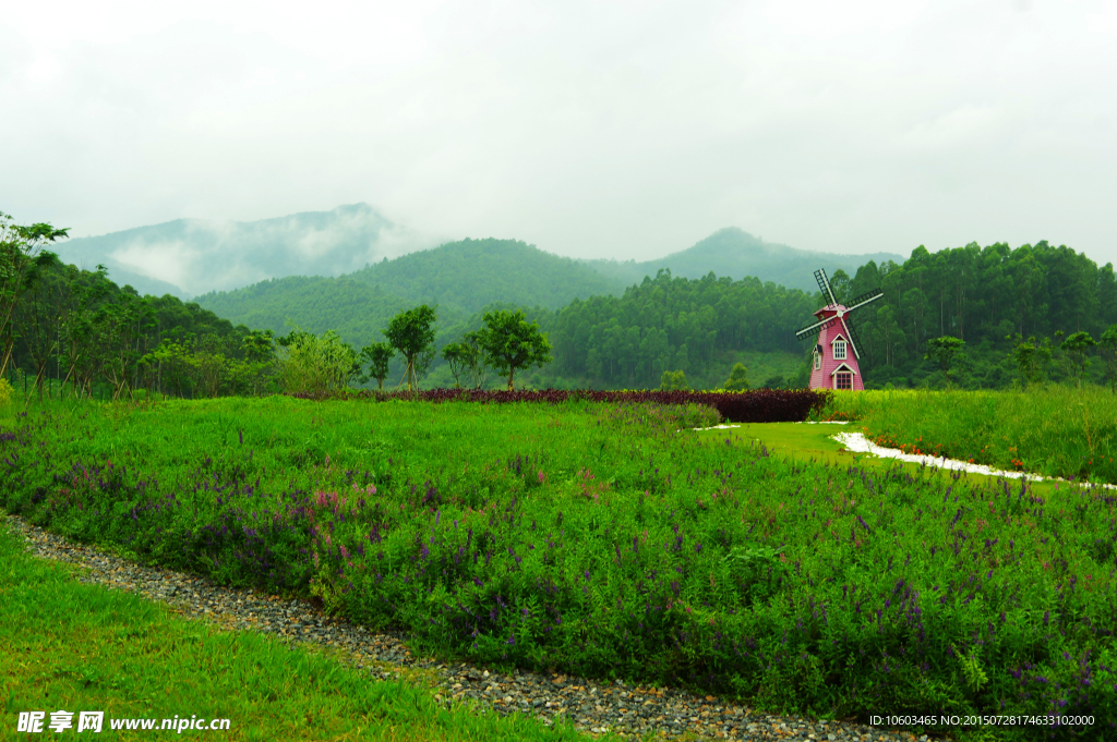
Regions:
M 576 740 L 518 714 L 436 703 L 421 684 L 373 681 L 319 651 L 219 632 L 164 605 L 77 582 L 77 568 L 29 556 L 0 523 L 3 730 L 23 711 L 103 711 L 108 720 L 229 719 L 226 740 Z M 75 727 L 77 715 L 74 716 Z M 47 732 L 50 733 L 49 731 Z M 8 739 L 8 738 L 6 738 Z

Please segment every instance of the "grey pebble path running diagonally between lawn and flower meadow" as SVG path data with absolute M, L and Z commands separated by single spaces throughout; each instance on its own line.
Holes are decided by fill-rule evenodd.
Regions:
M 222 628 L 256 630 L 336 649 L 372 677 L 419 675 L 435 686 L 439 701 L 472 702 L 479 711 L 518 711 L 545 723 L 566 717 L 585 732 L 614 732 L 634 739 L 649 734 L 674 738 L 689 732 L 705 739 L 731 740 L 917 740 L 909 732 L 862 724 L 755 713 L 747 706 L 675 688 L 523 671 L 500 674 L 476 665 L 440 663 L 412 655 L 405 634 L 370 632 L 325 616 L 306 600 L 281 599 L 255 590 L 222 587 L 204 577 L 144 567 L 95 547 L 70 542 L 16 515 L 8 517 L 8 524 L 23 534 L 32 553 L 84 567 L 78 578 L 83 582 L 162 600 L 184 617 L 202 618 Z

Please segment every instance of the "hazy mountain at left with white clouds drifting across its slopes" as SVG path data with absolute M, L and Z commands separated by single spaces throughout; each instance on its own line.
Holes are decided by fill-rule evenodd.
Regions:
M 366 203 L 255 222 L 179 219 L 56 248 L 65 262 L 104 264 L 140 293 L 189 298 L 287 276 L 341 276 L 430 247 Z

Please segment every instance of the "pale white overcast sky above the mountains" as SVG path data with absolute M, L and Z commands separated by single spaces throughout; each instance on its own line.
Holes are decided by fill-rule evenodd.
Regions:
M 0 3 L 0 211 L 1117 262 L 1117 3 Z

